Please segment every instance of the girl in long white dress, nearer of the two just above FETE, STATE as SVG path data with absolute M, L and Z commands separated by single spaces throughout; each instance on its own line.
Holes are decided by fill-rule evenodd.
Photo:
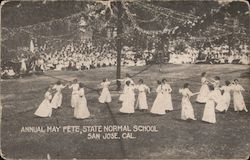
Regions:
M 89 109 L 87 107 L 87 100 L 85 98 L 83 83 L 79 83 L 78 100 L 74 108 L 74 117 L 76 119 L 85 119 L 90 117 Z

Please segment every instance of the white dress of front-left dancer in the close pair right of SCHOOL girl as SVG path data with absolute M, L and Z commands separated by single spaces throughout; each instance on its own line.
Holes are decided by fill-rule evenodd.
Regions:
M 166 114 L 166 107 L 165 107 L 165 101 L 164 101 L 164 90 L 163 86 L 159 85 L 156 89 L 157 96 L 155 98 L 155 101 L 153 103 L 153 106 L 150 110 L 151 113 L 153 114 L 159 114 L 159 115 L 164 115 Z

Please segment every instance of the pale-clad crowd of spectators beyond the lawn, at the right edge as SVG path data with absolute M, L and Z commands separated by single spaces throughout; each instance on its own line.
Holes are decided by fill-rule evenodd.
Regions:
M 248 45 L 240 45 L 239 48 L 230 49 L 228 45 L 211 46 L 204 49 L 196 49 L 188 46 L 182 52 L 175 52 L 170 48 L 169 63 L 173 64 L 250 64 Z

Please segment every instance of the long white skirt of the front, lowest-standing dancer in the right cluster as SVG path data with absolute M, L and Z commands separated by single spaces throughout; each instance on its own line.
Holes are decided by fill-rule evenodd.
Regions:
M 214 101 L 208 100 L 204 108 L 202 121 L 209 122 L 209 123 L 216 123 L 214 108 L 215 108 Z

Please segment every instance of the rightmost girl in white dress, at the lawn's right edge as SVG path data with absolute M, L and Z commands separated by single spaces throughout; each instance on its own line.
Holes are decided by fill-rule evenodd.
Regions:
M 233 101 L 234 101 L 234 111 L 243 111 L 245 110 L 248 112 L 244 97 L 241 93 L 241 91 L 245 91 L 245 89 L 239 84 L 239 80 L 235 79 L 233 86 Z

